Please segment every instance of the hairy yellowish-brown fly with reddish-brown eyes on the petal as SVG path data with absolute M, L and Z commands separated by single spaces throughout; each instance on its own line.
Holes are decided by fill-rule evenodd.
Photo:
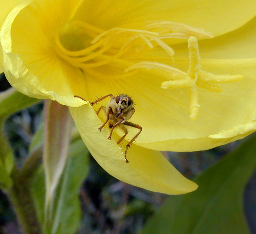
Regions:
M 74 97 L 80 98 L 82 100 L 84 100 L 83 98 L 75 95 Z M 123 137 L 117 142 L 117 144 L 119 144 L 124 137 L 127 135 L 128 131 L 127 128 L 125 126 L 130 126 L 130 127 L 135 127 L 140 129 L 140 131 L 133 137 L 133 139 L 126 145 L 126 149 L 125 149 L 125 153 L 124 153 L 124 158 L 127 164 L 129 164 L 129 161 L 126 158 L 126 154 L 127 154 L 127 150 L 128 148 L 130 148 L 130 145 L 132 144 L 132 142 L 139 136 L 139 134 L 142 131 L 142 127 L 138 124 L 134 124 L 131 122 L 128 122 L 127 120 L 129 120 L 133 113 L 135 112 L 135 109 L 133 107 L 133 101 L 131 99 L 131 97 L 129 97 L 126 94 L 120 94 L 117 95 L 116 97 L 114 97 L 112 94 L 108 94 L 104 97 L 101 97 L 93 102 L 90 102 L 91 105 L 94 105 L 95 103 L 110 97 L 110 100 L 107 104 L 107 106 L 101 106 L 98 111 L 96 112 L 96 114 L 98 115 L 100 110 L 103 110 L 107 116 L 106 121 L 104 122 L 104 124 L 102 124 L 98 130 L 101 131 L 101 129 L 108 123 L 110 130 L 110 134 L 108 139 L 111 140 L 111 136 L 112 133 L 114 131 L 114 129 L 116 127 L 120 127 L 123 129 L 123 131 L 125 132 L 125 134 L 123 135 Z M 84 100 L 85 101 L 85 100 Z

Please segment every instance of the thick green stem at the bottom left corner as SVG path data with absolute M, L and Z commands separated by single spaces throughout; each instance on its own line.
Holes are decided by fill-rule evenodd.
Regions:
M 30 193 L 30 179 L 21 176 L 17 166 L 11 173 L 13 187 L 8 191 L 14 206 L 18 221 L 24 233 L 41 233 L 40 224 L 36 216 L 33 199 Z

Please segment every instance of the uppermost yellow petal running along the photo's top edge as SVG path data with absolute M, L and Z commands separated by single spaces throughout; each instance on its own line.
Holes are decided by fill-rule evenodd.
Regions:
M 74 15 L 103 29 L 143 26 L 145 20 L 168 20 L 204 28 L 215 36 L 241 27 L 255 16 L 255 1 L 84 1 Z

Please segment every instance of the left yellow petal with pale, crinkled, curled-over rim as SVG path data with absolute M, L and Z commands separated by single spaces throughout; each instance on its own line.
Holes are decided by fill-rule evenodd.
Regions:
M 30 5 L 25 2 L 12 10 L 0 33 L 1 66 L 8 81 L 20 92 L 34 98 L 50 98 L 64 105 L 80 106 L 83 101 L 74 98 L 70 83 L 74 77 L 77 83 L 82 82 L 83 73 L 57 56 L 49 35 L 73 14 L 76 1 L 68 2 L 34 1 Z M 62 17 L 53 14 L 59 8 Z M 58 20 L 51 19 L 52 24 L 46 26 L 42 16 L 55 16 Z

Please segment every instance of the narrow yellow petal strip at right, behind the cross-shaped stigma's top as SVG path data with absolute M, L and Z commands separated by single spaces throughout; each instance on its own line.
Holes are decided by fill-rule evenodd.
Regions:
M 198 42 L 200 57 L 202 59 L 247 59 L 255 58 L 256 51 L 256 17 L 251 19 L 242 27 L 230 33 L 214 37 L 212 39 L 201 40 Z M 179 60 L 188 58 L 187 42 L 180 45 L 174 45 L 175 66 L 180 66 Z M 151 55 L 153 56 L 153 55 Z M 162 62 L 168 63 L 170 57 L 162 55 Z M 165 58 L 165 59 L 164 59 Z M 177 62 L 176 62 L 177 61 Z M 172 66 L 172 63 L 169 62 Z M 188 65 L 179 67 L 187 70 Z

